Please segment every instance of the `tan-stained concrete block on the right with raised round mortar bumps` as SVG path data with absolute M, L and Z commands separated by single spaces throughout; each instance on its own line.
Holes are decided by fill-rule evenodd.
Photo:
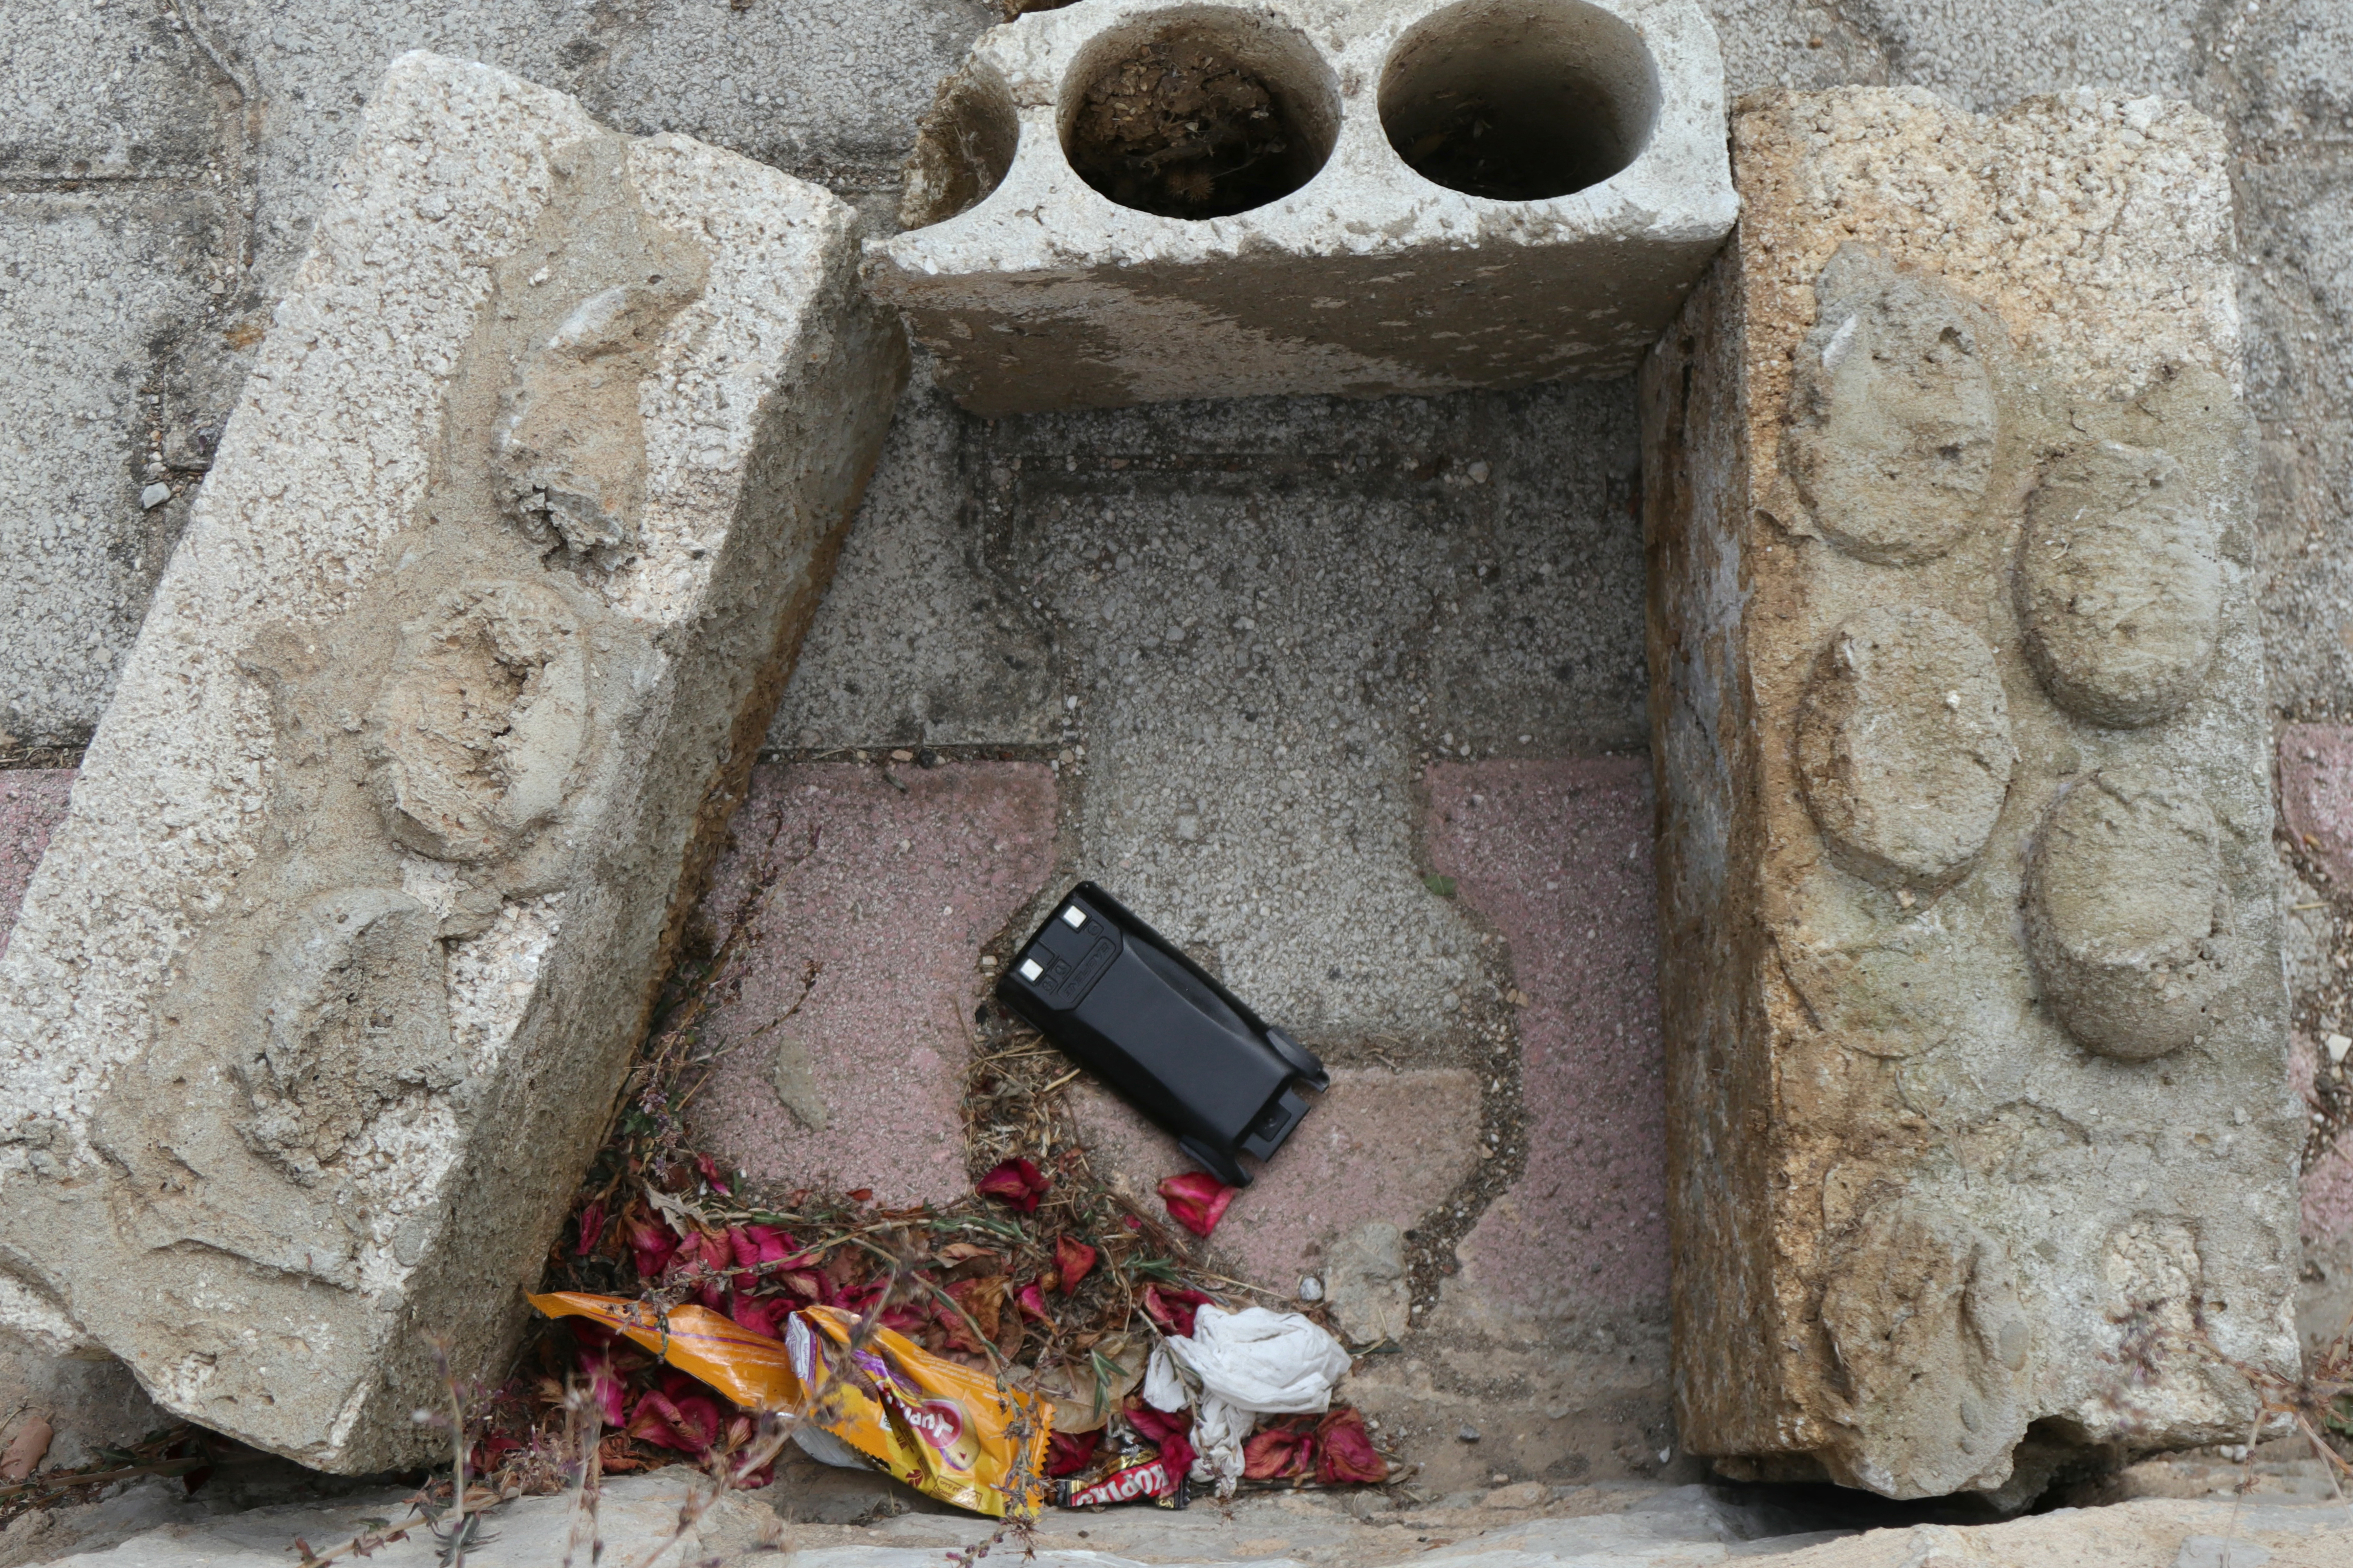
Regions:
M 2294 1375 L 2304 1128 L 2221 129 L 1748 103 L 1642 374 L 1682 1439 L 2242 1439 L 2198 1335 Z

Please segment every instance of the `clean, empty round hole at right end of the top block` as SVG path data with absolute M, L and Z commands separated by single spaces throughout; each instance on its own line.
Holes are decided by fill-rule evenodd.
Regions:
M 1642 38 L 1579 0 L 1464 0 L 1398 40 L 1381 129 L 1417 174 L 1541 202 L 1631 165 L 1659 113 Z

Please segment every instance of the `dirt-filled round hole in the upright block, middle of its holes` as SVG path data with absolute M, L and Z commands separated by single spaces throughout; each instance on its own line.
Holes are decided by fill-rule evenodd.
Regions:
M 1297 31 L 1217 7 L 1096 38 L 1061 99 L 1071 167 L 1120 207 L 1221 219 L 1315 179 L 1339 87 Z

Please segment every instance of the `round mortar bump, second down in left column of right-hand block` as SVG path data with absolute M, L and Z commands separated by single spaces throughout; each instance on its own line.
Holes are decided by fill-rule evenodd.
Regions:
M 1866 609 L 1814 661 L 1798 776 L 1833 856 L 1861 877 L 1955 879 L 1993 832 L 2017 759 L 1993 649 L 1941 609 Z

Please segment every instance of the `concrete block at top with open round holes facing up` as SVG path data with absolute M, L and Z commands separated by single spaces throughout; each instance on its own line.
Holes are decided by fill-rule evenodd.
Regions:
M 873 287 L 981 414 L 1617 376 L 1734 219 L 1689 0 L 1111 0 L 981 35 Z

